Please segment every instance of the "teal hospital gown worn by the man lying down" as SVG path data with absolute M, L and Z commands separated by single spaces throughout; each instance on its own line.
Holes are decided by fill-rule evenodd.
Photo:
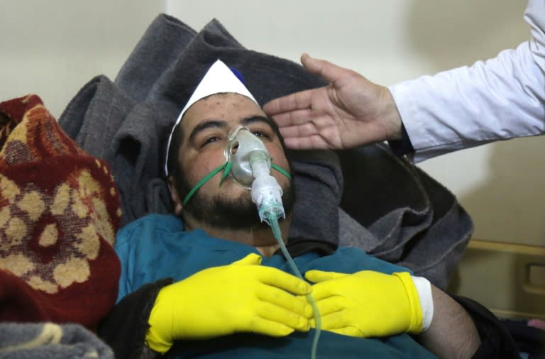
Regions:
M 185 231 L 177 217 L 158 214 L 145 216 L 122 228 L 115 249 L 121 260 L 118 302 L 145 284 L 165 277 L 183 280 L 205 268 L 228 265 L 249 253 L 258 253 L 251 245 L 213 238 L 200 229 Z M 348 247 L 325 256 L 311 251 L 297 256 L 294 262 L 302 273 L 308 270 L 409 271 Z M 264 257 L 261 265 L 290 272 L 282 255 Z M 204 341 L 178 341 L 170 351 L 176 353 L 177 358 L 309 358 L 313 337 L 314 329 L 307 333 L 294 332 L 284 338 L 239 333 Z M 317 358 L 435 357 L 407 334 L 354 338 L 321 331 Z

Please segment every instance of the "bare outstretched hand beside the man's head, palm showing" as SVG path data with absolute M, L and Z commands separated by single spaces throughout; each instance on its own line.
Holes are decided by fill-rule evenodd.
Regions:
M 342 149 L 401 138 L 401 118 L 386 87 L 352 70 L 303 54 L 307 71 L 330 82 L 263 106 L 287 147 Z

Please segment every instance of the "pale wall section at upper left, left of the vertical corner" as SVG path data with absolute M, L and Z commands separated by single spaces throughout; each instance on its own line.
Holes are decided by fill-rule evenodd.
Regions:
M 114 79 L 163 0 L 0 0 L 0 100 L 38 94 L 58 118 L 97 74 Z

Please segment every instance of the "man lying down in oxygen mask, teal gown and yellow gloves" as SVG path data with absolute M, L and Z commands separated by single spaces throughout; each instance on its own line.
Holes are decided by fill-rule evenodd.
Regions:
M 175 214 L 145 216 L 116 238 L 118 303 L 99 336 L 117 358 L 517 357 L 475 302 L 359 248 L 290 245 L 296 199 L 282 137 L 223 62 L 182 110 L 165 170 Z M 249 189 L 254 177 L 264 192 Z M 304 279 L 252 198 L 267 206 L 280 195 L 276 237 Z

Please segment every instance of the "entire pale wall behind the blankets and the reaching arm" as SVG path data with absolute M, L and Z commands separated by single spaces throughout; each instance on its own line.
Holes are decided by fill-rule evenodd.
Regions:
M 160 12 L 199 30 L 216 17 L 247 48 L 306 51 L 381 84 L 495 56 L 529 36 L 512 0 L 0 0 L 0 100 L 39 94 L 59 116 L 96 74 L 114 79 Z M 475 237 L 544 243 L 545 139 L 426 161 L 475 219 Z

